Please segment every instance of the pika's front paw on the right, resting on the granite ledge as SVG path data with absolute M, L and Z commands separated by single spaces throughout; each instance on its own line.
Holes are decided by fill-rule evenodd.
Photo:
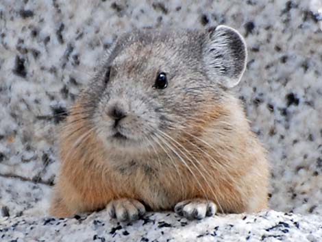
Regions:
M 217 210 L 216 204 L 206 199 L 190 199 L 175 205 L 175 213 L 187 219 L 212 217 Z

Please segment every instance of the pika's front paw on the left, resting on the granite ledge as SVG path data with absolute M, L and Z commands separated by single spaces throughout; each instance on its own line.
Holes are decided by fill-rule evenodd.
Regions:
M 135 221 L 145 214 L 145 206 L 136 199 L 117 199 L 112 200 L 106 206 L 108 214 L 118 221 Z

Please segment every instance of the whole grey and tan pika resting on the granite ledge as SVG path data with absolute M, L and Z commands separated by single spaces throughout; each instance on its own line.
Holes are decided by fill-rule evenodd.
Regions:
M 230 90 L 246 60 L 243 37 L 224 25 L 119 36 L 60 132 L 51 215 L 267 208 L 266 152 Z

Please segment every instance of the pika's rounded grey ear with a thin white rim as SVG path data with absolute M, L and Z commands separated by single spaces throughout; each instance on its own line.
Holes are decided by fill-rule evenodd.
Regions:
M 245 71 L 246 59 L 245 40 L 235 29 L 219 25 L 208 30 L 203 62 L 211 79 L 226 88 L 236 86 Z

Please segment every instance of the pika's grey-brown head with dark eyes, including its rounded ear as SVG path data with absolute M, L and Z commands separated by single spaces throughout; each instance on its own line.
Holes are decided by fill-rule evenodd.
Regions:
M 87 90 L 97 136 L 125 152 L 193 134 L 238 84 L 246 58 L 243 37 L 223 25 L 123 34 Z

